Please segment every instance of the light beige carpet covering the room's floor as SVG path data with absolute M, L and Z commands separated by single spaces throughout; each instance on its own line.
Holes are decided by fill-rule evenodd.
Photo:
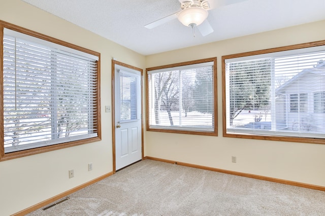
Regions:
M 27 215 L 325 215 L 323 191 L 153 160 L 68 197 Z

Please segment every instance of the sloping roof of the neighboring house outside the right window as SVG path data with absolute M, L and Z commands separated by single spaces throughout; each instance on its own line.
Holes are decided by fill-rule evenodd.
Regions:
M 317 64 L 314 65 L 314 67 L 303 69 L 300 73 L 295 75 L 293 78 L 291 78 L 290 80 L 286 81 L 284 84 L 279 86 L 276 89 L 276 93 L 280 93 L 282 90 L 290 86 L 291 83 L 297 82 L 298 79 L 301 79 L 302 76 L 306 76 L 307 74 L 316 74 L 320 76 L 325 76 L 325 61 L 319 60 Z

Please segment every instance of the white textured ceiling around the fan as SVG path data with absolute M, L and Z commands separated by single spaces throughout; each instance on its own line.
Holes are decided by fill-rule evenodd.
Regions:
M 143 55 L 325 19 L 324 0 L 246 0 L 210 10 L 214 32 L 205 37 L 197 32 L 194 38 L 191 28 L 177 19 L 153 29 L 144 27 L 180 11 L 178 0 L 22 1 Z

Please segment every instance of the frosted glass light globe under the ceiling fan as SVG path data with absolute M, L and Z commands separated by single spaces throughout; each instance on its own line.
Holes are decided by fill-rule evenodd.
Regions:
M 200 25 L 208 17 L 208 11 L 200 7 L 186 8 L 179 12 L 178 20 L 185 26 Z

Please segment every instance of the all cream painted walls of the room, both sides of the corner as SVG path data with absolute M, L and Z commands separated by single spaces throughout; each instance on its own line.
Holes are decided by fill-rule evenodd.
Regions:
M 224 138 L 221 117 L 222 55 L 325 40 L 325 21 L 144 57 L 19 0 L 0 0 L 0 20 L 100 52 L 102 78 L 102 141 L 0 162 L 0 215 L 18 212 L 113 170 L 112 117 L 104 111 L 105 105 L 111 105 L 112 57 L 140 68 L 218 58 L 219 136 L 145 131 L 145 156 L 325 186 L 325 145 Z M 236 164 L 231 156 L 237 156 Z M 90 172 L 89 162 L 93 163 Z M 70 169 L 75 170 L 71 179 Z

